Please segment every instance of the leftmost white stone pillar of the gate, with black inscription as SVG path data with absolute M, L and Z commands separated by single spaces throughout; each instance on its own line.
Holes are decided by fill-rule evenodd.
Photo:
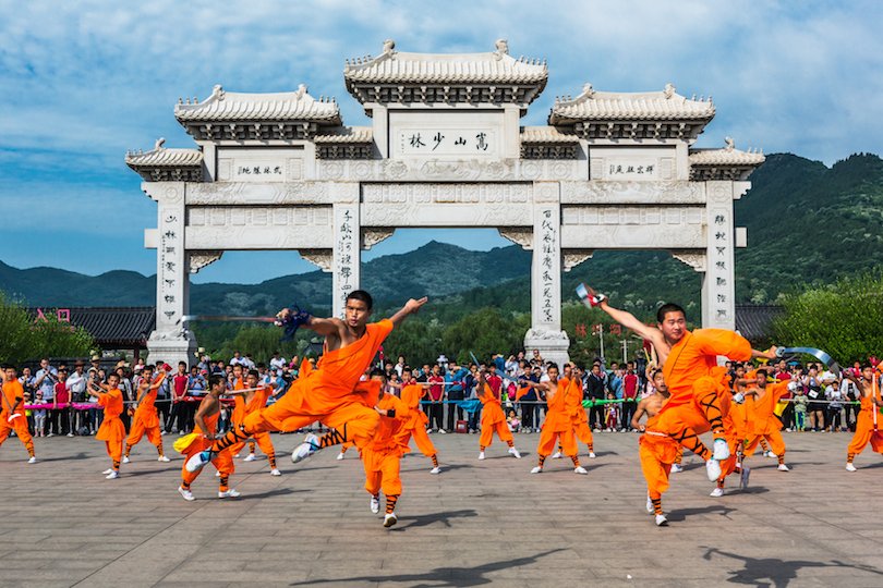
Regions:
M 157 203 L 156 329 L 147 341 L 147 360 L 177 364 L 195 359 L 196 340 L 181 317 L 190 311 L 190 256 L 184 242 L 184 182 L 145 182 Z

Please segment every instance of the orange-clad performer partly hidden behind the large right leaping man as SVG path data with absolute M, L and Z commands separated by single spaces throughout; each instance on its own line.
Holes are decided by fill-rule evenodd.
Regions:
M 646 512 L 656 516 L 656 525 L 668 525 L 662 509 L 662 495 L 668 490 L 668 475 L 675 463 L 680 445 L 668 433 L 655 429 L 656 416 L 668 402 L 668 389 L 661 369 L 651 372 L 656 393 L 641 400 L 634 408 L 631 428 L 643 432 L 638 439 L 638 455 L 641 458 L 641 471 L 646 480 Z M 641 417 L 646 415 L 646 424 Z

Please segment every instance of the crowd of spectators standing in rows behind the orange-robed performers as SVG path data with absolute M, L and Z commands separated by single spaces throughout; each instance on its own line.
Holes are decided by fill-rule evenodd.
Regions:
M 310 358 L 311 363 L 315 359 Z M 274 383 L 283 390 L 298 378 L 300 359 L 295 356 L 286 359 L 279 353 L 273 355 L 268 364 L 255 363 L 249 355 L 235 352 L 229 362 L 203 356 L 195 365 L 181 363 L 171 368 L 171 373 L 162 382 L 157 394 L 157 412 L 164 433 L 185 433 L 193 429 L 193 416 L 198 401 L 206 393 L 208 377 L 220 373 L 227 377 L 232 388 L 234 367 L 243 372 L 256 370 L 263 383 Z M 486 363 L 460 365 L 440 355 L 435 363 L 426 363 L 413 368 L 400 356 L 396 363 L 387 360 L 388 391 L 397 393 L 402 387 L 403 377 L 425 383 L 423 408 L 428 417 L 431 432 L 448 433 L 455 430 L 476 432 L 480 428 L 481 405 L 477 401 L 479 370 L 489 368 L 486 381 L 494 394 L 503 403 L 507 420 L 513 431 L 537 432 L 542 427 L 546 411 L 544 393 L 535 388 L 524 387 L 524 381 L 540 382 L 548 378 L 549 363 L 534 350 L 504 356 L 494 355 Z M 655 393 L 652 380 L 645 372 L 646 363 L 639 357 L 634 362 L 609 366 L 596 359 L 588 369 L 579 366 L 582 380 L 583 400 L 589 405 L 589 424 L 594 431 L 631 430 L 630 422 L 637 403 Z M 735 382 L 752 369 L 752 366 L 728 364 L 731 381 Z M 88 387 L 106 382 L 110 372 L 120 377 L 120 389 L 125 402 L 133 403 L 134 392 L 141 381 L 144 360 L 119 362 L 112 369 L 101 367 L 101 358 L 73 362 L 72 365 L 53 365 L 48 358 L 39 362 L 32 370 L 23 368 L 20 381 L 25 391 L 25 403 L 33 406 L 27 411 L 27 420 L 36 437 L 89 436 L 95 434 L 101 424 L 101 409 L 95 396 L 86 393 Z M 563 371 L 567 366 L 561 366 Z M 854 368 L 858 370 L 858 364 Z M 774 377 L 790 380 L 790 394 L 783 404 L 781 414 L 783 428 L 788 431 L 838 432 L 854 431 L 858 414 L 858 391 L 855 384 L 819 364 L 799 365 L 778 362 Z M 517 394 L 518 391 L 521 394 Z M 278 396 L 277 396 L 278 397 Z M 271 399 L 270 402 L 274 402 Z M 604 402 L 606 401 L 606 402 Z M 464 406 L 470 409 L 464 411 Z M 226 413 L 226 412 L 225 412 Z M 221 416 L 221 426 L 226 424 Z M 129 414 L 122 419 L 129 428 Z

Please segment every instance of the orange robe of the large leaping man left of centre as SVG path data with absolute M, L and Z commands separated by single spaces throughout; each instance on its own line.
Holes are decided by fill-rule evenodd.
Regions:
M 319 420 L 340 432 L 346 425 L 343 441 L 364 446 L 374 436 L 379 416 L 353 391 L 391 330 L 389 319 L 373 322 L 358 341 L 326 351 L 316 369 L 302 373 L 281 399 L 245 417 L 245 432 L 291 431 Z

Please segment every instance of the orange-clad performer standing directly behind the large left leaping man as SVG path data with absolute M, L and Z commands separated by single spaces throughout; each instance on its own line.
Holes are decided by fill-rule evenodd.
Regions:
M 408 451 L 402 443 L 401 429 L 410 420 L 410 409 L 398 397 L 383 392 L 386 375 L 374 370 L 371 384 L 376 387 L 377 402 L 375 411 L 380 422 L 372 440 L 362 448 L 362 463 L 365 466 L 365 490 L 371 494 L 371 512 L 380 512 L 380 490 L 386 497 L 384 527 L 391 527 L 398 522 L 396 503 L 401 495 L 401 456 Z

